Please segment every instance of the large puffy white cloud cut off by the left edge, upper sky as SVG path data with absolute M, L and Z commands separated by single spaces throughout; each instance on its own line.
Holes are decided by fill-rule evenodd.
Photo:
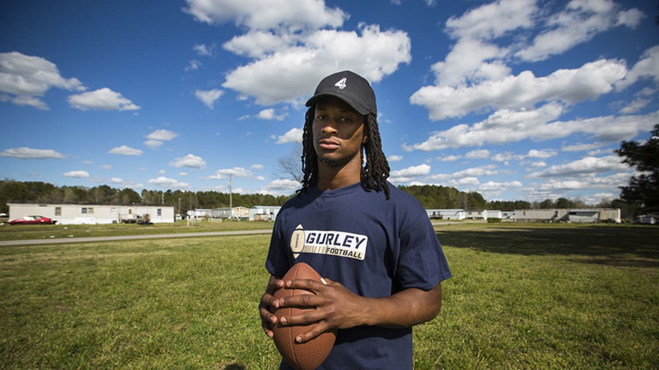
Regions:
M 46 110 L 42 97 L 50 88 L 86 90 L 77 78 L 63 78 L 57 66 L 46 59 L 17 51 L 0 53 L 0 92 L 9 94 L 0 96 L 1 101 Z

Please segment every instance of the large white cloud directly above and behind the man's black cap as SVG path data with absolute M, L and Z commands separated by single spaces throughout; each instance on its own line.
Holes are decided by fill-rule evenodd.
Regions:
M 337 70 L 351 69 L 373 83 L 411 61 L 407 33 L 381 32 L 377 25 L 361 24 L 359 33 L 318 30 L 289 35 L 285 41 L 287 46 L 229 72 L 222 86 L 271 105 L 308 96 L 321 78 Z

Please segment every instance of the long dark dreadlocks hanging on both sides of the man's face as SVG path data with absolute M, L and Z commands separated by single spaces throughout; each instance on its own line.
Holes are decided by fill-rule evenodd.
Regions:
M 302 188 L 298 194 L 306 192 L 312 184 L 318 181 L 318 155 L 314 149 L 314 114 L 316 105 L 307 109 L 304 115 L 304 128 L 302 129 Z M 366 115 L 364 119 L 364 136 L 367 138 L 362 149 L 366 152 L 366 165 L 362 168 L 361 179 L 362 188 L 366 191 L 375 190 L 379 192 L 384 190 L 384 194 L 389 199 L 389 163 L 387 157 L 382 152 L 382 140 L 380 140 L 380 130 L 378 129 L 378 118 L 372 113 Z

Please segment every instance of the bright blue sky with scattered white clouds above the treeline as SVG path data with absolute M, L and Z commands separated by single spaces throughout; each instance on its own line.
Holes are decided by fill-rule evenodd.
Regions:
M 372 83 L 391 182 L 617 198 L 659 122 L 656 1 L 3 1 L 0 176 L 293 194 L 304 101 Z

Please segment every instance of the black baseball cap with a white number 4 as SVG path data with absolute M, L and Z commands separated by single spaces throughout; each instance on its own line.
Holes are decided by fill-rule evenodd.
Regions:
M 373 88 L 366 78 L 351 70 L 344 70 L 323 78 L 318 84 L 314 96 L 306 101 L 306 106 L 311 107 L 318 99 L 326 96 L 338 97 L 362 115 L 368 113 L 378 115 Z

